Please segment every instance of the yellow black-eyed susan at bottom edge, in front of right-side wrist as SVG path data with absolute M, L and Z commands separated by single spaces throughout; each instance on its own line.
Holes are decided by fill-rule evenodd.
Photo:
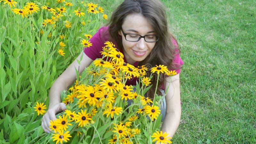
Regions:
M 163 144 L 172 143 L 172 141 L 169 140 L 172 138 L 168 137 L 168 133 L 166 133 L 166 132 L 163 133 L 162 131 L 160 131 L 160 132 L 156 131 L 153 133 L 153 135 L 151 137 L 155 138 L 155 139 L 153 139 L 153 141 L 156 141 L 156 143 L 161 143 L 161 144 L 162 143 Z

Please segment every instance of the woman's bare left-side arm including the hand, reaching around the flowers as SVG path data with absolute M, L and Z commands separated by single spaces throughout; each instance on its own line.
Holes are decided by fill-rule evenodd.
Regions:
M 80 61 L 80 65 L 77 60 Z M 60 93 L 63 90 L 67 90 L 71 84 L 76 80 L 76 69 L 79 69 L 79 74 L 84 71 L 84 68 L 92 63 L 84 51 L 79 54 L 79 56 L 74 60 L 68 68 L 55 80 L 49 92 L 49 108 L 42 118 L 42 127 L 44 132 L 50 132 L 50 120 L 55 120 L 55 114 L 66 109 L 66 105 L 61 102 Z

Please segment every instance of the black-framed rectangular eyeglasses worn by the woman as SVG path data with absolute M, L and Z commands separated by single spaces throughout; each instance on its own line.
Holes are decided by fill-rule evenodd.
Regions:
M 140 36 L 137 34 L 126 34 L 124 33 L 123 29 L 121 28 L 122 33 L 124 34 L 124 37 L 129 42 L 138 42 L 140 38 L 144 38 L 144 40 L 148 43 L 154 43 L 158 41 L 158 37 L 156 35 L 145 35 Z

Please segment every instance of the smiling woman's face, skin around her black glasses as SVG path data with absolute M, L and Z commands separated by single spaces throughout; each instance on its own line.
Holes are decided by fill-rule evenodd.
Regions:
M 127 15 L 124 18 L 122 29 L 124 33 L 138 34 L 141 36 L 156 34 L 147 18 L 138 13 Z M 119 31 L 119 35 L 122 36 L 125 59 L 130 64 L 144 60 L 156 44 L 156 42 L 148 43 L 144 38 L 140 38 L 138 42 L 127 41 L 121 30 Z

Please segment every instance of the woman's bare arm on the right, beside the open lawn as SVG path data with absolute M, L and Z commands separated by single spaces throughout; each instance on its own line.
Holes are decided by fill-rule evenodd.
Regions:
M 168 89 L 168 86 L 170 87 Z M 168 89 L 168 91 L 167 91 Z M 180 74 L 167 78 L 165 84 L 166 114 L 161 131 L 169 133 L 173 137 L 179 127 L 181 106 L 180 106 Z

